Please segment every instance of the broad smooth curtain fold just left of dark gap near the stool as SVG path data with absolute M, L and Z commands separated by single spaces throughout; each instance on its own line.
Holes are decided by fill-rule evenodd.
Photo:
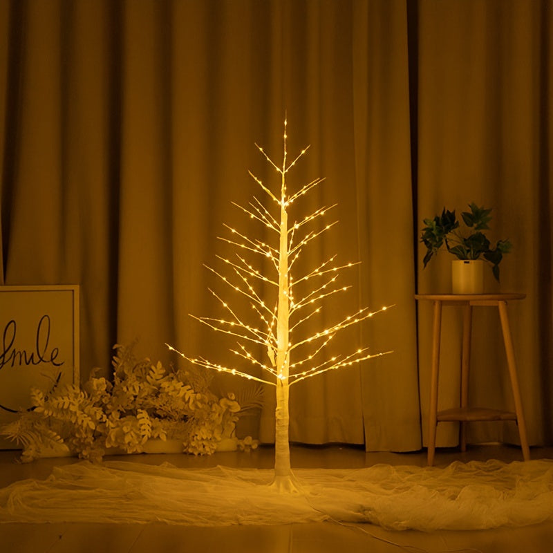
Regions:
M 395 304 L 368 329 L 393 350 L 362 373 L 368 450 L 420 449 L 407 10 L 358 2 L 354 12 L 354 135 L 362 302 Z M 393 63 L 390 63 L 393 60 Z M 393 399 L 392 399 L 393 398 Z

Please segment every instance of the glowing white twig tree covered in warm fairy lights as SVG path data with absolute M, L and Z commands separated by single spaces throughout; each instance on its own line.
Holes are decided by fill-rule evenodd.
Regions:
M 192 364 L 275 386 L 277 409 L 275 411 L 274 481 L 272 486 L 281 491 L 294 492 L 298 488 L 290 467 L 290 445 L 288 441 L 290 386 L 328 371 L 350 367 L 371 357 L 384 355 L 384 353 L 368 353 L 368 347 L 364 347 L 346 355 L 329 357 L 325 350 L 337 332 L 373 317 L 375 313 L 386 310 L 386 307 L 376 311 L 362 308 L 353 315 L 341 318 L 329 328 L 318 330 L 313 334 L 297 339 L 297 341 L 292 339 L 292 330 L 295 338 L 300 333 L 298 330 L 308 320 L 321 312 L 321 303 L 325 298 L 350 288 L 350 286 L 339 286 L 337 284 L 338 271 L 350 268 L 357 263 L 337 265 L 337 256 L 332 256 L 330 259 L 319 263 L 317 267 L 303 272 L 303 274 L 297 276 L 294 274 L 292 270 L 294 263 L 296 263 L 303 248 L 330 229 L 336 222 L 322 225 L 319 223 L 317 226 L 317 221 L 323 218 L 335 205 L 320 207 L 315 212 L 302 216 L 299 221 L 292 223 L 288 221 L 291 205 L 299 200 L 301 196 L 320 185 L 324 179 L 316 178 L 303 185 L 299 190 L 293 193 L 288 192 L 286 180 L 288 172 L 309 147 L 303 149 L 294 160 L 289 162 L 286 146 L 286 126 L 287 122 L 285 121 L 281 166 L 273 162 L 263 151 L 263 148 L 256 144 L 265 159 L 279 173 L 279 191 L 275 193 L 269 185 L 265 185 L 261 179 L 249 171 L 250 176 L 254 178 L 263 191 L 269 207 L 256 197 L 253 198 L 248 207 L 242 207 L 234 203 L 247 216 L 256 219 L 268 228 L 268 234 L 272 236 L 272 240 L 265 243 L 258 238 L 241 234 L 241 232 L 228 225 L 225 225 L 225 227 L 229 230 L 230 237 L 221 238 L 225 243 L 237 247 L 238 250 L 245 250 L 263 259 L 269 259 L 269 266 L 272 265 L 270 274 L 265 274 L 266 272 L 261 268 L 262 263 L 259 263 L 259 268 L 255 268 L 246 259 L 245 255 L 240 253 L 236 253 L 232 259 L 217 256 L 229 267 L 229 274 L 232 274 L 232 277 L 227 277 L 222 272 L 207 267 L 225 285 L 249 301 L 256 314 L 256 323 L 250 324 L 246 321 L 230 302 L 225 301 L 214 290 L 209 290 L 209 292 L 221 303 L 227 318 L 216 319 L 192 315 L 192 317 L 213 330 L 238 337 L 238 348 L 233 349 L 232 353 L 241 357 L 248 365 L 256 366 L 257 375 L 247 372 L 247 369 L 216 364 L 205 357 L 189 357 L 169 346 L 169 344 L 167 345 L 170 350 L 175 351 Z M 307 287 L 308 291 L 304 291 L 301 297 L 295 297 L 294 292 L 297 290 L 297 286 L 300 283 L 305 284 L 306 281 L 312 281 L 313 284 Z M 276 292 L 275 294 L 269 294 L 272 297 L 270 301 L 266 300 L 265 295 L 260 291 L 268 286 L 274 288 Z M 305 285 L 303 288 L 306 288 Z M 252 353 L 252 350 L 256 348 L 254 344 L 262 346 L 263 359 L 258 359 Z M 259 347 L 256 349 L 259 350 Z M 297 357 L 297 360 L 292 354 Z M 264 359 L 265 355 L 267 356 L 266 359 Z

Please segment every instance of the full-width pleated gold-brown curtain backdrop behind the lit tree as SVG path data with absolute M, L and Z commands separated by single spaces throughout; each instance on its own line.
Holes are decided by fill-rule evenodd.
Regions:
M 135 338 L 153 359 L 178 362 L 165 342 L 225 359 L 189 314 L 221 315 L 203 264 L 223 223 L 262 236 L 232 202 L 257 193 L 248 169 L 273 177 L 254 142 L 279 160 L 286 113 L 292 155 L 311 144 L 291 186 L 326 178 L 303 209 L 337 203 L 303 263 L 362 262 L 322 323 L 395 304 L 339 344 L 393 354 L 292 388 L 291 439 L 420 448 L 430 320 L 413 293 L 448 274 L 445 256 L 422 272 L 420 223 L 476 201 L 515 244 L 502 288 L 528 294 L 512 306 L 523 400 L 533 443 L 551 440 L 551 18 L 523 0 L 0 0 L 3 282 L 82 286 L 83 377 Z M 471 392 L 508 402 L 496 321 L 480 324 Z M 251 424 L 270 442 L 265 404 Z

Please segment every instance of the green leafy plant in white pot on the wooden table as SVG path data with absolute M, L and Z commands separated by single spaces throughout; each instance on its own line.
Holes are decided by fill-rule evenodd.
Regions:
M 488 230 L 491 221 L 491 209 L 469 204 L 470 211 L 462 212 L 462 221 L 467 227 L 461 232 L 455 210 L 442 210 L 441 215 L 432 219 L 424 219 L 421 242 L 427 247 L 424 255 L 424 267 L 432 256 L 445 245 L 450 254 L 457 260 L 452 263 L 452 284 L 454 294 L 478 294 L 483 292 L 482 265 L 487 261 L 491 272 L 499 281 L 499 263 L 503 255 L 510 252 L 512 244 L 508 240 L 499 240 L 494 247 L 482 232 Z

